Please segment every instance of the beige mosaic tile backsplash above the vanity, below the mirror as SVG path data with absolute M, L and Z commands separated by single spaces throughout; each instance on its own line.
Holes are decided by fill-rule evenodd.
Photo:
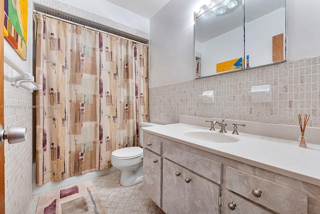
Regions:
M 320 55 L 149 88 L 150 121 L 178 122 L 178 115 L 320 127 Z M 251 86 L 271 84 L 272 101 L 252 103 Z M 214 90 L 214 102 L 198 95 Z

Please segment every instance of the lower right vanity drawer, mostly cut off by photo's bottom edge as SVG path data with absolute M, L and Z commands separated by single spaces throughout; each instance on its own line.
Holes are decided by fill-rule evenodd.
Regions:
M 229 203 L 234 203 L 234 209 L 228 208 Z M 243 197 L 240 197 L 236 194 L 233 194 L 230 191 L 225 191 L 225 195 L 223 198 L 223 206 L 224 208 L 224 213 L 230 213 L 230 214 L 267 214 L 267 213 L 273 213 L 270 212 L 258 205 L 255 205 L 254 203 L 244 199 Z M 232 205 L 232 204 L 231 204 Z M 231 207 L 232 208 L 232 207 Z

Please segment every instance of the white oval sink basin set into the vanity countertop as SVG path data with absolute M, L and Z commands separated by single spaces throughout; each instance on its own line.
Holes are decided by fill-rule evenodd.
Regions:
M 183 131 L 182 134 L 186 137 L 199 139 L 209 142 L 237 142 L 238 138 L 228 136 L 225 133 L 210 130 L 189 130 Z

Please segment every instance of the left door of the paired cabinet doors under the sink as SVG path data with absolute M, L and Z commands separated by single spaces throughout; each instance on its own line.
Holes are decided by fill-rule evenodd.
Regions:
M 184 213 L 184 168 L 167 159 L 162 164 L 162 210 Z

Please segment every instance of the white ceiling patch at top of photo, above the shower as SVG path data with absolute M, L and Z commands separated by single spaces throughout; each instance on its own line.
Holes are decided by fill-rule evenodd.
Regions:
M 130 10 L 138 15 L 151 19 L 169 0 L 107 0 Z

